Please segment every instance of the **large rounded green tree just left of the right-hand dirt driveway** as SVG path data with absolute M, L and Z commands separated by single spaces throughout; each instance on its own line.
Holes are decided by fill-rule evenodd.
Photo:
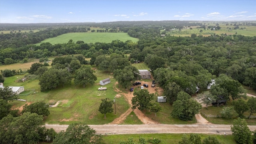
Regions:
M 186 92 L 179 92 L 177 100 L 172 104 L 171 115 L 181 120 L 192 120 L 192 118 L 199 114 L 202 105 L 196 100 L 192 99 Z

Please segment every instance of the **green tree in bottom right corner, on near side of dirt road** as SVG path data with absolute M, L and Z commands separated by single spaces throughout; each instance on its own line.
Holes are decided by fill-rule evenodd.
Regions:
M 231 131 L 237 144 L 252 144 L 252 132 L 245 119 L 238 117 L 234 120 Z

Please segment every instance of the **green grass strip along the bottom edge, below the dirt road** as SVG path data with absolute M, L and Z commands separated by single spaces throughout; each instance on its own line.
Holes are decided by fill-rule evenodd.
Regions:
M 204 138 L 207 138 L 209 135 L 207 134 L 199 134 L 201 136 L 201 140 Z M 105 144 L 117 144 L 120 142 L 120 140 L 128 141 L 128 138 L 133 138 L 133 141 L 135 143 L 139 142 L 139 138 L 143 137 L 146 140 L 158 138 L 161 140 L 159 144 L 178 144 L 179 141 L 181 141 L 183 134 L 117 134 L 117 135 L 108 135 L 103 136 L 103 142 Z M 187 136 L 190 136 L 190 134 L 187 134 Z M 216 137 L 219 142 L 222 144 L 236 144 L 234 141 L 234 137 L 232 135 L 211 135 Z M 150 144 L 147 142 L 147 144 Z

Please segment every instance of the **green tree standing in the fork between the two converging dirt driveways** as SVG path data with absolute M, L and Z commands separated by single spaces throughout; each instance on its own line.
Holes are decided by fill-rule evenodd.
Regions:
M 138 108 L 142 111 L 144 109 L 150 110 L 151 100 L 154 98 L 154 94 L 150 94 L 147 89 L 140 89 L 133 93 L 134 97 L 132 98 L 132 110 Z

